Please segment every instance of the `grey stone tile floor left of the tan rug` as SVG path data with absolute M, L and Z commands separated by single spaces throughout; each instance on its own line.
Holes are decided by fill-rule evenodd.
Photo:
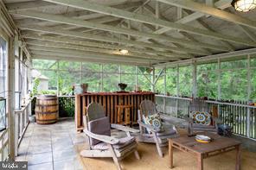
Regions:
M 75 131 L 74 119 L 29 123 L 16 161 L 28 161 L 29 170 L 82 170 L 78 150 L 85 144 L 86 137 Z

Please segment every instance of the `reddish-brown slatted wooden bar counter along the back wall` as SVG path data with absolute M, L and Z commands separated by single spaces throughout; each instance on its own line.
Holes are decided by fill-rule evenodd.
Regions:
M 111 123 L 117 123 L 116 105 L 131 104 L 131 120 L 137 123 L 139 104 L 144 100 L 149 99 L 155 102 L 155 93 L 153 92 L 97 92 L 84 93 L 75 95 L 75 123 L 76 129 L 83 129 L 82 116 L 86 115 L 86 106 L 92 102 L 102 104 L 105 108 L 106 116 L 110 118 Z

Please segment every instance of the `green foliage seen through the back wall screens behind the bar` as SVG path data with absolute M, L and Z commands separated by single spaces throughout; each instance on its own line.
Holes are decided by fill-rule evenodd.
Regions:
M 59 87 L 60 95 L 68 95 L 72 93 L 72 86 L 74 84 L 81 83 L 88 84 L 88 91 L 91 92 L 101 91 L 101 88 L 103 91 L 119 91 L 118 83 L 127 84 L 126 91 L 133 91 L 135 89 L 136 66 L 104 64 L 102 66 L 102 73 L 101 66 L 100 64 L 83 62 L 33 60 L 33 68 L 49 79 L 49 89 L 48 91 L 41 91 L 43 94 L 56 93 L 57 87 Z M 141 69 L 144 70 L 145 76 L 151 79 L 150 68 L 141 67 Z M 150 82 L 139 71 L 138 85 L 142 91 L 150 91 L 151 89 Z

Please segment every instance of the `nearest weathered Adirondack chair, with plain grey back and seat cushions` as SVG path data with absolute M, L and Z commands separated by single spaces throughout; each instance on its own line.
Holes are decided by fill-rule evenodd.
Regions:
M 114 163 L 121 170 L 119 160 L 134 153 L 139 160 L 137 142 L 131 133 L 139 130 L 131 129 L 119 124 L 110 124 L 109 118 L 105 116 L 103 106 L 97 103 L 89 104 L 86 116 L 83 116 L 85 124 L 84 132 L 89 137 L 89 149 L 80 152 L 83 157 L 112 157 Z M 111 128 L 126 132 L 126 137 L 116 138 L 111 136 Z

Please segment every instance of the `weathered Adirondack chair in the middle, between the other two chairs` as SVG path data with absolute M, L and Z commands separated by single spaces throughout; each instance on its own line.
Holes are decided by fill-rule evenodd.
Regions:
M 138 124 L 140 129 L 140 135 L 138 136 L 139 142 L 150 142 L 156 143 L 158 154 L 163 157 L 162 148 L 168 145 L 168 139 L 178 136 L 176 128 L 171 123 L 168 123 L 168 118 L 166 116 L 161 116 L 163 119 L 163 129 L 164 131 L 159 131 L 153 126 L 144 123 L 144 117 L 153 114 L 160 114 L 157 112 L 156 104 L 150 100 L 144 100 L 140 104 L 140 110 L 138 110 Z

